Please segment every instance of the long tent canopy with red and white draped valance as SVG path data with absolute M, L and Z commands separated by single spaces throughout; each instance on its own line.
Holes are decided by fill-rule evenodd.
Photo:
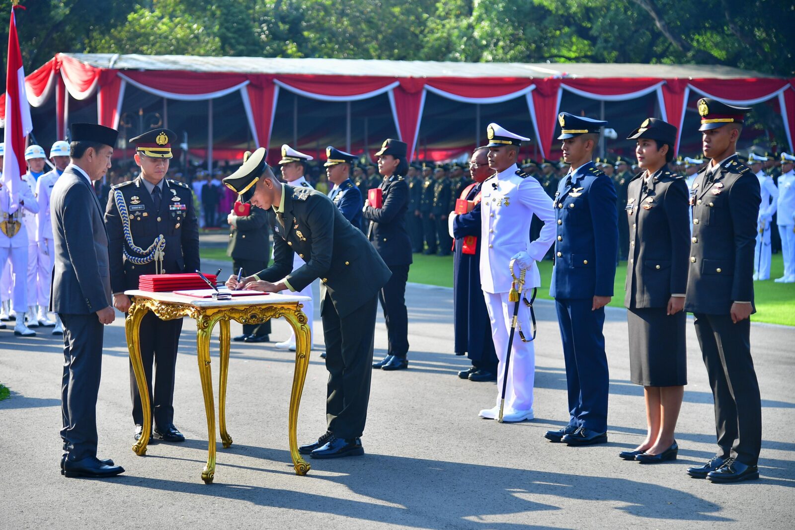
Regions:
M 238 125 L 247 125 L 249 144 L 269 146 L 273 140 L 277 104 L 280 98 L 284 99 L 284 92 L 288 91 L 295 97 L 293 130 L 296 129 L 299 114 L 299 98 L 301 101 L 310 99 L 345 103 L 347 116 L 336 115 L 330 123 L 338 130 L 335 139 L 339 145 L 352 152 L 356 152 L 356 146 L 351 145 L 351 103 L 386 95 L 394 119 L 392 130 L 411 146 L 412 157 L 421 153 L 418 138 L 421 136 L 424 116 L 426 121 L 429 119 L 426 103 L 431 99 L 436 102 L 434 105 L 440 99 L 475 105 L 477 136 L 472 138 L 474 143 L 466 142 L 467 149 L 484 136 L 479 132 L 485 130 L 487 123 L 485 119 L 483 124 L 480 123 L 481 106 L 511 103 L 510 107 L 503 107 L 503 113 L 506 108 L 513 114 L 526 112 L 536 140 L 533 149 L 539 156 L 553 157 L 556 115 L 561 100 L 572 95 L 599 102 L 602 114 L 606 103 L 629 103 L 645 98 L 651 102 L 651 106 L 646 105 L 646 114 L 657 115 L 679 126 L 680 133 L 688 108 L 693 108 L 692 99 L 708 96 L 735 105 L 772 104 L 781 115 L 788 142 L 786 147 L 790 150 L 795 147 L 795 79 L 721 66 L 473 64 L 59 53 L 28 75 L 26 85 L 28 99 L 33 107 L 44 106 L 54 93 L 58 138 L 64 137 L 68 123 L 69 98 L 79 102 L 95 98 L 97 122 L 118 128 L 125 95 L 132 90 L 163 98 L 164 101 L 208 100 L 210 105 L 214 99 L 237 93 L 242 112 L 227 118 L 235 118 Z M 3 108 L 0 102 L 0 111 Z M 461 111 L 462 107 L 456 108 L 456 111 Z M 301 114 L 304 110 L 308 111 L 308 106 L 302 106 Z M 565 110 L 572 109 L 567 107 Z M 641 114 L 634 117 L 638 122 L 644 117 L 643 112 L 639 112 Z M 607 118 L 612 120 L 610 116 Z M 627 124 L 627 131 L 636 125 L 634 122 L 631 127 Z M 524 133 L 530 133 L 526 122 L 522 128 Z M 695 130 L 697 127 L 692 128 Z M 342 130 L 345 130 L 344 135 Z M 624 132 L 619 130 L 619 137 L 623 137 L 621 133 Z M 293 135 L 297 140 L 297 133 Z M 319 136 L 316 134 L 315 137 Z M 328 137 L 326 135 L 324 139 Z M 344 144 L 339 142 L 341 137 L 345 138 Z M 377 138 L 378 143 L 381 140 Z M 210 133 L 207 141 L 209 157 L 212 144 Z M 369 147 L 365 141 L 364 145 L 359 146 L 359 153 Z M 444 148 L 444 145 L 437 147 Z M 439 152 L 432 158 L 455 153 L 454 149 L 437 150 Z

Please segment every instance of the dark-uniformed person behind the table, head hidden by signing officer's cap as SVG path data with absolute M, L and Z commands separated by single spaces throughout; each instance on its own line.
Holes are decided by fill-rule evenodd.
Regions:
M 232 258 L 235 274 L 242 269 L 242 276 L 250 276 L 268 266 L 270 241 L 268 234 L 268 215 L 265 210 L 250 206 L 248 215 L 237 215 L 232 211 L 227 215 L 229 223 L 229 246 L 227 256 Z M 270 339 L 270 320 L 261 324 L 243 324 L 242 335 L 235 337 L 237 342 L 268 342 Z

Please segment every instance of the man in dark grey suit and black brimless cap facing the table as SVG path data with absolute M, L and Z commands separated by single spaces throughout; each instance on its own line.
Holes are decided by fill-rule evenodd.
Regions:
M 61 413 L 67 477 L 112 477 L 124 472 L 97 453 L 96 403 L 102 369 L 103 325 L 115 319 L 111 308 L 107 232 L 102 207 L 91 185 L 111 168 L 118 133 L 91 123 L 72 125 L 71 163 L 50 196 L 55 266 L 50 311 L 64 325 L 64 378 Z

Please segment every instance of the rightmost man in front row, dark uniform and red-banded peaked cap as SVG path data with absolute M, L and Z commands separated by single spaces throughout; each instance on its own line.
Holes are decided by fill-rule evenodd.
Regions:
M 688 474 L 739 482 L 759 478 L 762 446 L 762 404 L 750 356 L 754 246 L 762 199 L 757 176 L 735 154 L 750 108 L 703 98 L 698 110 L 704 157 L 712 160 L 690 191 L 693 230 L 684 309 L 696 317 L 696 336 L 715 399 L 719 450 Z

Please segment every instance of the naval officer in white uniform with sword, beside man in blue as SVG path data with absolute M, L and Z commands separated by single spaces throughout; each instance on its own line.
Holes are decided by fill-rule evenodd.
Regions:
M 497 352 L 497 399 L 493 408 L 480 411 L 479 416 L 493 420 L 499 414 L 502 383 L 505 375 L 510 323 L 515 302 L 508 300 L 511 287 L 510 261 L 516 260 L 514 273 L 525 269 L 524 290 L 520 293 L 518 327 L 514 332 L 505 408 L 506 422 L 533 420 L 533 384 L 535 350 L 528 300 L 533 288 L 541 285 L 536 261 L 541 261 L 555 237 L 555 214 L 552 199 L 538 180 L 522 172 L 516 165 L 519 147 L 529 138 L 503 129 L 496 123 L 487 128 L 489 168 L 496 174 L 483 182 L 481 199 L 480 281 L 491 319 L 491 337 Z M 530 222 L 536 215 L 544 223 L 541 234 L 530 241 Z M 520 334 L 521 331 L 521 334 Z

